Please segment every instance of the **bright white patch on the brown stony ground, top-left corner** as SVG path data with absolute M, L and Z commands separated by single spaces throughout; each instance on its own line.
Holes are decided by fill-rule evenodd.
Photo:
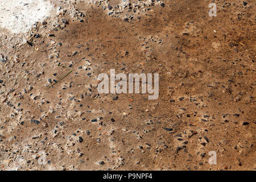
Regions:
M 49 16 L 52 7 L 45 0 L 0 0 L 0 27 L 15 34 L 26 33 Z

